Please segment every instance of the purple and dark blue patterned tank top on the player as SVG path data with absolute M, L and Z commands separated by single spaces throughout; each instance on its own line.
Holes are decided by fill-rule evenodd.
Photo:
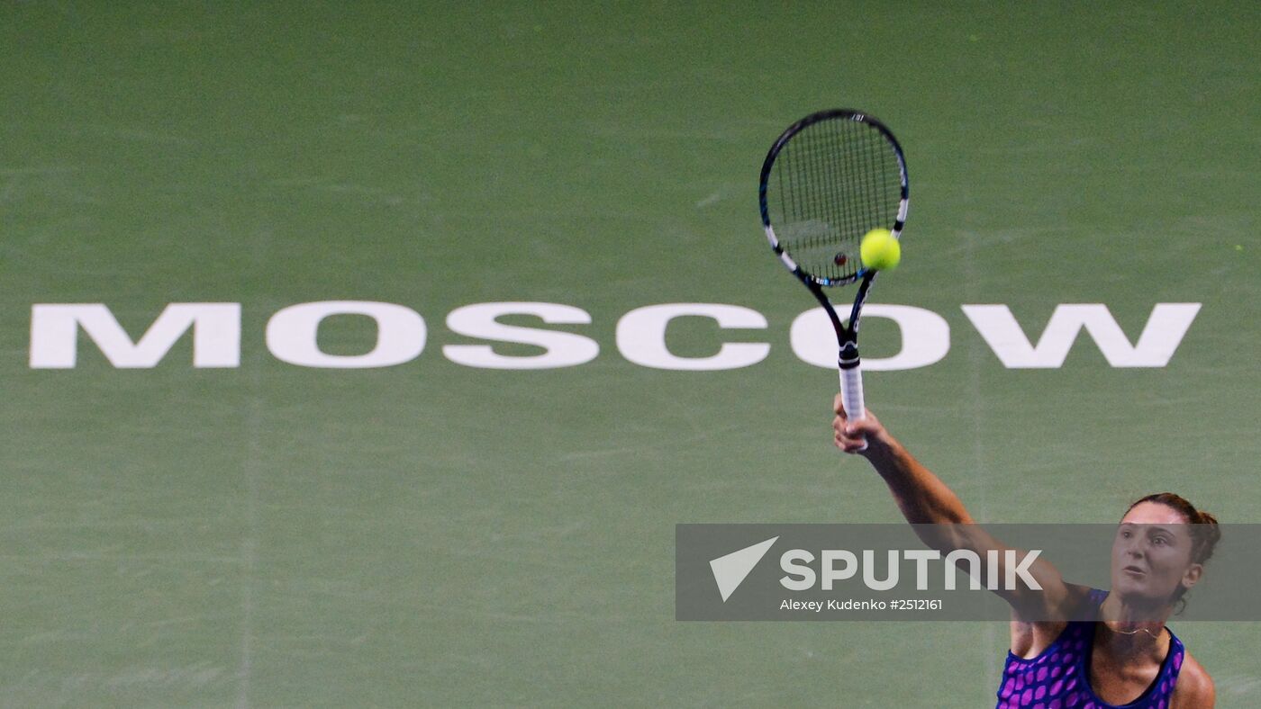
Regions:
M 1098 608 L 1107 591 L 1091 589 L 1090 602 Z M 1168 630 L 1168 628 L 1165 628 Z M 1002 667 L 996 709 L 1120 709 L 1108 704 L 1091 689 L 1091 647 L 1095 644 L 1093 621 L 1072 621 L 1059 637 L 1031 660 L 1008 652 Z M 1124 709 L 1169 709 L 1174 683 L 1182 670 L 1185 649 L 1169 631 L 1169 654 L 1160 664 L 1156 679 L 1137 699 Z

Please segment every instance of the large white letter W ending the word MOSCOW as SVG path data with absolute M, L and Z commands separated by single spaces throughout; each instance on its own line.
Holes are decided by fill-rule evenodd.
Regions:
M 963 312 L 1009 369 L 1058 368 L 1064 364 L 1077 334 L 1086 331 L 1112 366 L 1165 366 L 1190 327 L 1198 302 L 1161 302 L 1130 345 L 1121 326 L 1103 303 L 1055 306 L 1038 345 L 1029 344 L 1020 324 L 1005 305 L 965 305 Z

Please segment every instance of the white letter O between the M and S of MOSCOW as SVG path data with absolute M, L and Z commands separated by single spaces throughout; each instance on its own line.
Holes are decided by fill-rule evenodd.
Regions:
M 361 355 L 330 355 L 317 343 L 319 324 L 332 315 L 362 315 L 377 324 L 377 341 Z M 272 356 L 299 366 L 368 369 L 416 359 L 425 349 L 425 320 L 416 311 L 388 302 L 324 301 L 293 305 L 267 321 Z

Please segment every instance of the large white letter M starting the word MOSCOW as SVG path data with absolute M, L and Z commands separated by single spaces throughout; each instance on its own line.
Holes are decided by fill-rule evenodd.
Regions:
M 105 305 L 37 303 L 30 309 L 30 368 L 73 369 L 79 327 L 117 368 L 155 366 L 190 327 L 193 366 L 241 365 L 238 302 L 173 302 L 136 343 Z

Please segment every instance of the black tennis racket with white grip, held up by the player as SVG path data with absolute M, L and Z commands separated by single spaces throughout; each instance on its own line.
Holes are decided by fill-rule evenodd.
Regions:
M 813 293 L 836 330 L 845 413 L 865 416 L 859 316 L 875 281 L 859 254 L 864 234 L 902 234 L 909 204 L 907 161 L 884 123 L 837 108 L 806 116 L 770 146 L 758 185 L 762 225 L 779 261 Z M 859 282 L 847 321 L 823 287 Z

